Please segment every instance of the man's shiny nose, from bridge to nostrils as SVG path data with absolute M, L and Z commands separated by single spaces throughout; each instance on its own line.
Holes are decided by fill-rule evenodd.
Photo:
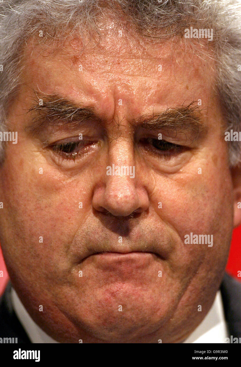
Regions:
M 109 166 L 103 169 L 103 184 L 94 190 L 93 207 L 100 212 L 127 217 L 149 207 L 149 197 L 136 170 L 131 143 L 115 142 L 109 152 Z M 123 146 L 125 145 L 125 147 Z

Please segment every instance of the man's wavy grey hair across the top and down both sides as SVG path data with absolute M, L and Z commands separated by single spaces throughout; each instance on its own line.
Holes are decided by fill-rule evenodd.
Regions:
M 1 0 L 0 0 L 1 1 Z M 84 44 L 106 10 L 122 19 L 126 28 L 146 40 L 183 36 L 189 25 L 213 29 L 213 49 L 217 65 L 215 90 L 227 131 L 240 131 L 241 122 L 241 3 L 231 0 L 2 0 L 0 3 L 0 131 L 7 123 L 11 101 L 17 96 L 25 65 L 21 63 L 24 43 L 35 36 L 60 44 L 76 30 Z M 124 16 L 124 17 L 123 17 Z M 39 31 L 43 37 L 36 37 Z M 191 40 L 190 40 L 191 41 Z M 241 66 L 240 66 L 241 68 Z M 1 144 L 1 142 L 0 142 Z M 241 142 L 230 142 L 229 161 L 240 161 Z M 3 157 L 3 144 L 0 155 Z

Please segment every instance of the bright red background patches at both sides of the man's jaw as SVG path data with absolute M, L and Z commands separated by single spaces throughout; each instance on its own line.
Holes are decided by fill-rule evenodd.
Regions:
M 241 277 L 238 277 L 238 271 L 241 270 L 241 226 L 234 229 L 233 239 L 231 243 L 230 253 L 226 270 L 229 274 L 233 275 L 237 280 L 241 282 Z M 4 288 L 9 279 L 7 269 L 4 264 L 3 256 L 0 248 L 0 271 L 3 270 L 3 277 L 0 277 L 0 295 L 4 291 Z

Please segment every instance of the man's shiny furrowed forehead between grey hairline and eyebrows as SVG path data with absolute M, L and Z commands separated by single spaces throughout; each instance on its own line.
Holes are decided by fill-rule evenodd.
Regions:
M 95 36 L 84 48 L 78 32 L 57 49 L 29 40 L 24 50 L 26 84 L 74 101 L 88 99 L 97 109 L 108 108 L 113 97 L 125 99 L 136 113 L 153 104 L 166 109 L 198 98 L 208 105 L 215 73 L 205 44 L 193 46 L 184 37 L 149 41 L 111 20 L 99 32 L 100 39 Z

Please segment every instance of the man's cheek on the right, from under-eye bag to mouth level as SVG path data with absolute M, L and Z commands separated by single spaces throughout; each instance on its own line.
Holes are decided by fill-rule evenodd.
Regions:
M 188 174 L 156 181 L 156 186 L 162 188 L 155 194 L 156 203 L 162 202 L 162 208 L 155 204 L 156 212 L 176 234 L 171 261 L 175 267 L 180 266 L 180 272 L 188 264 L 193 270 L 200 264 L 203 269 L 224 269 L 226 265 L 233 222 L 232 183 L 229 170 L 225 171 L 221 163 L 202 164 L 201 174 L 192 163 Z M 185 244 L 185 236 L 191 237 L 191 233 L 210 235 L 212 243 Z

